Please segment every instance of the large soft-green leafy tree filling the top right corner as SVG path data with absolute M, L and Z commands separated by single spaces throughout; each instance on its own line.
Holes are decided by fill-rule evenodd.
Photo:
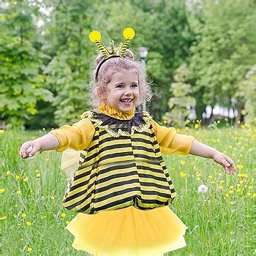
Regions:
M 189 79 L 198 102 L 230 105 L 238 83 L 255 63 L 256 3 L 252 0 L 201 1 L 189 23 L 196 34 L 190 48 Z M 197 112 L 200 113 L 197 106 Z

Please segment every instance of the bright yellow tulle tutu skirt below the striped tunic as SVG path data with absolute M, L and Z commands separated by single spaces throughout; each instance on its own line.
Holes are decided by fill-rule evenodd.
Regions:
M 75 236 L 72 246 L 94 256 L 156 256 L 187 245 L 187 227 L 168 206 L 78 214 L 66 228 Z

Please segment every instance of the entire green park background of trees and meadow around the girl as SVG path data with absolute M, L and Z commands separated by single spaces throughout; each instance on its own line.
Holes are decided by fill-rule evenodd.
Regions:
M 118 45 L 126 27 L 137 58 L 148 48 L 148 81 L 160 95 L 151 116 L 238 166 L 225 176 L 208 159 L 165 157 L 178 192 L 171 207 L 189 227 L 188 246 L 170 255 L 255 253 L 255 26 L 253 0 L 0 0 L 0 254 L 84 255 L 64 230 L 75 214 L 61 208 L 61 155 L 23 160 L 18 151 L 89 110 L 89 33 Z

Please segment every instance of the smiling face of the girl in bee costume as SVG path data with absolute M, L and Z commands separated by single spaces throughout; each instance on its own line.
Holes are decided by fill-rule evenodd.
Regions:
M 135 69 L 120 69 L 107 84 L 105 103 L 111 108 L 127 112 L 139 99 L 139 81 Z

